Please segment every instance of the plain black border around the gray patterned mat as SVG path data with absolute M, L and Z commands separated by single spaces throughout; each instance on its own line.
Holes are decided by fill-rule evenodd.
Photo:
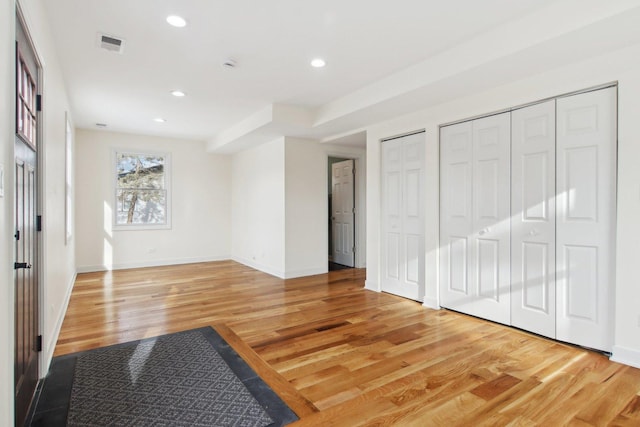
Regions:
M 104 351 L 110 348 L 128 347 L 141 342 L 155 340 L 162 336 L 186 334 L 196 331 L 204 335 L 206 340 L 218 352 L 233 373 L 258 401 L 260 406 L 262 406 L 265 412 L 274 420 L 269 427 L 285 426 L 298 420 L 296 414 L 287 404 L 255 373 L 224 338 L 212 327 L 205 326 L 54 357 L 51 361 L 49 373 L 46 378 L 40 382 L 36 390 L 33 404 L 35 409 L 32 411 L 33 415 L 28 425 L 33 427 L 58 427 L 66 425 L 78 357 L 97 350 Z

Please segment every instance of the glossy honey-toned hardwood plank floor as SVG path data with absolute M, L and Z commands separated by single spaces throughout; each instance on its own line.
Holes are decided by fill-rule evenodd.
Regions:
M 232 261 L 80 274 L 55 355 L 211 325 L 295 426 L 640 425 L 640 369 L 364 279 Z

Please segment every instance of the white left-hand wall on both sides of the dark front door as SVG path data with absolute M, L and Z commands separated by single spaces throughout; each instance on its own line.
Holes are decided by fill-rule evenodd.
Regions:
M 40 332 L 44 338 L 44 348 L 40 363 L 41 375 L 51 360 L 57 340 L 59 326 L 64 316 L 67 297 L 75 277 L 73 242 L 65 244 L 64 239 L 64 156 L 65 156 L 65 112 L 69 110 L 66 90 L 56 51 L 52 44 L 44 7 L 40 0 L 19 2 L 36 53 L 42 64 L 44 84 L 42 86 L 43 107 L 40 158 L 43 169 L 40 180 L 41 202 L 39 212 L 43 214 L 43 264 L 40 271 Z M 3 236 L 0 243 L 0 257 L 11 260 L 14 257 L 14 97 L 15 93 L 15 7 L 11 0 L 0 2 L 0 93 L 7 94 L 0 100 L 0 163 L 4 167 L 5 192 L 0 199 L 0 229 Z M 4 286 L 0 287 L 0 425 L 13 425 L 14 410 L 14 288 L 13 270 L 10 263 L 0 267 L 0 277 Z

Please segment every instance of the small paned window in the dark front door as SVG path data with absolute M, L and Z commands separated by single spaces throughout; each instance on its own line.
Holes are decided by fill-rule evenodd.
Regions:
M 36 82 L 18 50 L 16 70 L 16 133 L 32 147 L 36 146 Z

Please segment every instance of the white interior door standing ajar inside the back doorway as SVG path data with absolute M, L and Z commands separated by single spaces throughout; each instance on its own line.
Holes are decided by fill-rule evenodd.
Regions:
M 353 160 L 331 165 L 331 227 L 333 261 L 354 266 Z

